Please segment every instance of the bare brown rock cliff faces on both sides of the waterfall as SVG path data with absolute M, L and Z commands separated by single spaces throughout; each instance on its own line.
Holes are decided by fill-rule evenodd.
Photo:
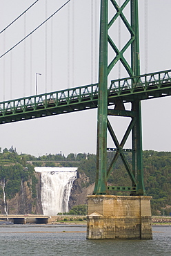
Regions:
M 31 185 L 32 181 L 21 181 L 21 190 L 15 194 L 14 198 L 6 199 L 6 205 L 4 203 L 3 196 L 0 199 L 0 214 L 43 214 L 41 205 L 41 173 L 35 172 L 35 176 L 38 180 L 36 185 L 36 197 L 32 197 Z M 87 202 L 86 196 L 92 194 L 94 190 L 94 184 L 87 186 L 89 178 L 86 174 L 77 174 L 77 179 L 74 181 L 70 200 L 69 209 L 74 205 L 85 204 Z M 6 210 L 5 210 L 6 206 Z

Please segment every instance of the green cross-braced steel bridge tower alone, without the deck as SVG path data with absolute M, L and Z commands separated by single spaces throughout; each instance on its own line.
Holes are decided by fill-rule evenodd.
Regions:
M 139 17 L 138 17 L 138 0 L 125 0 L 122 6 L 117 1 L 109 0 L 117 11 L 112 19 L 108 21 L 109 3 L 108 0 L 101 0 L 101 19 L 100 19 L 100 46 L 99 46 L 99 100 L 98 100 L 98 124 L 97 124 L 97 176 L 94 194 L 105 194 L 108 190 L 130 190 L 134 195 L 144 194 L 143 185 L 143 165 L 142 165 L 142 135 L 141 135 L 141 101 L 137 98 L 130 99 L 132 111 L 128 113 L 124 107 L 123 99 L 114 102 L 114 109 L 108 109 L 108 75 L 115 64 L 120 60 L 130 77 L 140 75 L 139 67 Z M 126 6 L 130 4 L 130 22 L 123 14 Z M 117 18 L 121 18 L 123 24 L 128 29 L 130 39 L 121 50 L 114 44 L 109 35 L 109 30 Z M 116 54 L 112 62 L 108 64 L 108 44 Z M 131 47 L 131 64 L 123 57 L 123 53 Z M 133 81 L 132 81 L 133 82 Z M 121 143 L 114 134 L 112 125 L 108 116 L 130 116 L 132 118 L 130 125 L 123 136 Z M 107 170 L 107 129 L 117 151 L 112 163 Z M 132 169 L 125 158 L 123 146 L 132 131 Z M 107 181 L 113 167 L 119 157 L 123 161 L 125 168 L 132 181 L 132 188 L 127 187 L 108 187 Z

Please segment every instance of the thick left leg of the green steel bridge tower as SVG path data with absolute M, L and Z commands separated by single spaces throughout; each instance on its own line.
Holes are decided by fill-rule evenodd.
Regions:
M 97 114 L 97 174 L 94 194 L 107 191 L 107 120 L 108 120 L 108 0 L 101 0 L 99 46 L 99 95 Z

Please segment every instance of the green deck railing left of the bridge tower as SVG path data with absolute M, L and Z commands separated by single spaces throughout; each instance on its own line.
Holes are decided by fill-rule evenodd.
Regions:
M 98 95 L 98 84 L 90 84 L 72 89 L 54 91 L 26 98 L 18 98 L 0 102 L 0 116 L 21 113 L 30 110 L 46 109 L 47 107 L 58 107 L 72 104 L 72 102 L 83 102 L 93 100 Z

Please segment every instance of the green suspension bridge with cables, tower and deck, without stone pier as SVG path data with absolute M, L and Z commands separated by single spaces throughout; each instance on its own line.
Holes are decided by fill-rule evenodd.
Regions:
M 8 26 L 5 26 L 1 30 L 1 35 L 3 35 L 3 53 L 1 53 L 1 69 L 3 73 L 3 101 L 0 102 L 0 124 L 5 124 L 9 122 L 17 122 L 21 120 L 30 120 L 34 118 L 41 118 L 45 116 L 55 116 L 63 113 L 71 113 L 75 111 L 83 111 L 86 109 L 98 109 L 98 122 L 97 122 L 97 178 L 96 186 L 94 189 L 94 194 L 105 194 L 108 190 L 119 190 L 128 191 L 133 195 L 143 195 L 145 193 L 143 186 L 143 165 L 142 165 L 142 135 L 141 135 L 141 100 L 148 100 L 154 98 L 161 98 L 171 95 L 171 70 L 159 71 L 154 73 L 140 74 L 140 62 L 139 62 L 139 17 L 138 17 L 138 1 L 101 1 L 101 15 L 100 21 L 100 39 L 99 39 L 99 81 L 97 82 L 97 17 L 98 17 L 98 6 L 97 1 L 93 3 L 91 1 L 91 26 L 90 26 L 90 41 L 91 41 L 91 53 L 90 53 L 90 84 L 86 86 L 75 86 L 75 61 L 74 52 L 76 47 L 74 43 L 76 41 L 74 37 L 74 3 L 73 1 L 60 2 L 60 6 L 57 10 L 53 11 L 51 15 L 48 16 L 48 2 L 45 1 L 45 19 L 31 30 L 28 34 L 26 33 L 26 14 L 32 10 L 39 1 L 34 1 L 26 10 L 24 10 L 21 15 L 19 15 L 14 21 L 12 21 Z M 72 3 L 72 5 L 71 5 Z M 147 2 L 145 2 L 147 5 Z M 68 68 L 68 79 L 67 86 L 59 91 L 52 91 L 52 73 L 53 73 L 53 32 L 54 27 L 50 27 L 50 60 L 48 55 L 48 22 L 53 19 L 55 15 L 60 15 L 65 8 L 68 8 L 68 21 L 66 22 L 67 28 L 67 39 L 68 41 L 68 59 L 65 63 L 66 66 L 70 66 L 72 69 L 72 75 L 70 67 Z M 96 10 L 96 12 L 94 12 Z M 128 15 L 128 10 L 130 17 Z M 127 17 L 128 15 L 128 17 Z M 70 17 L 72 16 L 72 22 Z M 15 22 L 19 22 L 23 17 L 23 30 L 24 36 L 17 43 L 15 42 L 13 46 L 9 45 L 8 41 L 8 29 L 10 26 L 14 26 Z M 147 15 L 145 16 L 147 20 Z M 60 16 L 61 19 L 61 16 Z M 118 42 L 114 42 L 114 32 L 111 29 L 117 22 L 117 36 Z M 72 24 L 72 28 L 71 28 Z M 89 24 L 90 25 L 90 24 Z M 45 82 L 44 90 L 45 93 L 37 93 L 36 84 L 36 94 L 32 95 L 30 89 L 30 95 L 26 96 L 27 93 L 27 59 L 30 59 L 30 84 L 32 84 L 32 71 L 33 71 L 33 52 L 37 54 L 33 49 L 33 35 L 37 33 L 37 30 L 45 26 L 45 42 L 43 48 L 44 54 L 44 68 L 45 68 Z M 147 24 L 146 24 L 147 26 Z M 147 27 L 145 27 L 147 28 Z M 112 32 L 111 32 L 112 30 Z M 122 34 L 124 31 L 128 33 L 128 39 L 123 42 Z M 71 37 L 72 33 L 72 37 Z M 30 57 L 28 58 L 28 53 L 26 51 L 26 44 L 28 44 L 28 37 L 30 37 Z M 64 37 L 64 36 L 63 36 Z M 72 38 L 72 39 L 71 39 Z M 37 37 L 36 37 L 37 40 Z M 64 40 L 65 41 L 65 40 Z M 6 84 L 10 84 L 8 88 L 10 98 L 12 97 L 12 84 L 15 76 L 14 74 L 14 51 L 19 46 L 23 47 L 23 97 L 14 98 L 12 100 L 5 100 L 6 98 Z M 61 41 L 62 44 L 62 41 Z M 9 46 L 8 46 L 9 45 Z M 9 47 L 7 49 L 7 47 Z M 41 47 L 41 46 L 40 46 Z M 110 47 L 110 48 L 109 48 Z M 129 49 L 129 54 L 127 53 Z M 38 51 L 39 49 L 37 49 Z M 9 56 L 10 57 L 9 57 Z M 42 55 L 42 53 L 41 53 Z M 58 59 L 59 60 L 59 59 Z M 41 58 L 40 58 L 41 62 Z M 48 68 L 48 62 L 50 63 L 51 70 Z M 148 61 L 145 62 L 146 66 Z M 21 65 L 21 63 L 19 64 Z M 59 65 L 59 64 L 58 64 Z M 118 66 L 117 66 L 118 65 Z M 6 81 L 6 67 L 10 66 L 10 75 L 8 81 Z M 60 66 L 60 65 L 59 65 Z M 116 72 L 114 68 L 117 66 L 118 77 L 116 77 Z M 60 67 L 59 67 L 60 69 Z M 50 77 L 48 77 L 48 71 Z M 94 73 L 93 73 L 94 72 Z M 36 73 L 36 72 L 35 72 Z M 60 71 L 59 71 L 60 73 Z M 5 75 L 4 75 L 5 74 Z M 36 73 L 36 75 L 41 75 L 41 73 Z M 125 76 L 123 76 L 125 75 Z M 122 78 L 123 77 L 123 78 Z M 37 78 L 37 77 L 36 77 Z M 72 80 L 72 86 L 70 86 L 70 80 Z M 94 80 L 96 82 L 94 83 Z M 51 83 L 51 91 L 47 92 L 48 82 Z M 37 81 L 36 81 L 37 83 Z M 28 86 L 29 87 L 29 86 Z M 31 86 L 30 86 L 31 87 Z M 39 89 L 40 90 L 40 89 Z M 21 93 L 21 89 L 19 89 Z M 9 96 L 8 96 L 9 97 Z M 125 104 L 130 103 L 130 109 L 126 109 Z M 122 116 L 129 117 L 131 119 L 128 129 L 126 129 L 125 134 L 121 143 L 117 139 L 116 134 L 114 134 L 113 127 L 108 119 L 108 116 Z M 108 147 L 107 145 L 107 131 L 112 138 L 115 147 Z M 132 167 L 128 164 L 125 158 L 124 145 L 128 140 L 128 136 L 132 134 L 132 148 L 128 151 L 132 152 Z M 107 150 L 114 151 L 116 154 L 110 163 L 110 167 L 107 170 Z M 114 170 L 114 165 L 117 159 L 121 157 L 123 164 L 125 165 L 125 170 L 130 176 L 130 181 L 132 185 L 107 185 L 108 177 Z

